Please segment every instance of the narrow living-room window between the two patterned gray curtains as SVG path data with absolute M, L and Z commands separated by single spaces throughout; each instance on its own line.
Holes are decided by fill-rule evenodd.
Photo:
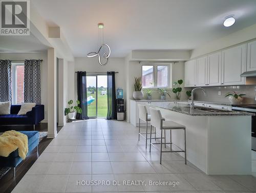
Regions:
M 12 104 L 24 102 L 24 63 L 12 63 Z

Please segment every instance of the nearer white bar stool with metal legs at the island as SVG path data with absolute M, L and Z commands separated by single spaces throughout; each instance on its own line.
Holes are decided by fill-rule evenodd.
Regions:
M 185 164 L 187 164 L 187 156 L 186 156 L 186 127 L 183 125 L 180 125 L 176 122 L 173 122 L 171 120 L 165 120 L 162 115 L 160 110 L 157 109 L 153 109 L 150 108 L 150 112 L 151 112 L 151 129 L 150 129 L 150 152 L 151 152 L 151 144 L 154 146 L 154 144 L 160 144 L 160 164 L 162 163 L 162 153 L 166 153 L 166 152 L 184 152 L 185 154 Z M 161 142 L 160 143 L 152 143 L 151 142 L 151 136 L 152 136 L 152 126 L 155 128 L 159 128 L 161 130 Z M 184 150 L 181 151 L 172 151 L 172 130 L 174 129 L 183 129 L 184 130 L 184 144 L 185 144 L 185 148 Z M 166 143 L 166 142 L 162 142 L 163 139 L 163 130 L 170 130 L 170 142 Z M 165 135 L 164 135 L 165 138 Z M 170 144 L 170 151 L 162 151 L 162 144 Z M 155 147 L 155 146 L 154 146 Z M 178 147 L 179 148 L 179 147 Z M 179 148 L 180 149 L 180 148 Z

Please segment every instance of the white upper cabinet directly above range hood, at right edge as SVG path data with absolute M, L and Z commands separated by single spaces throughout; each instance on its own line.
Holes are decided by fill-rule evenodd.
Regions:
M 247 43 L 247 71 L 256 70 L 256 41 Z

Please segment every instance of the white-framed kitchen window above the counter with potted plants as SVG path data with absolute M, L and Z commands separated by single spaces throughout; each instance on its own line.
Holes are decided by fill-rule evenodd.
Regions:
M 169 63 L 142 63 L 142 88 L 171 87 Z

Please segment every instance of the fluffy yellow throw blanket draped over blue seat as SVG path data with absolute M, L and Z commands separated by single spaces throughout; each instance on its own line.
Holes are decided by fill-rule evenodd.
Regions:
M 0 135 L 0 156 L 8 157 L 16 149 L 19 157 L 25 159 L 29 151 L 27 135 L 13 130 Z

